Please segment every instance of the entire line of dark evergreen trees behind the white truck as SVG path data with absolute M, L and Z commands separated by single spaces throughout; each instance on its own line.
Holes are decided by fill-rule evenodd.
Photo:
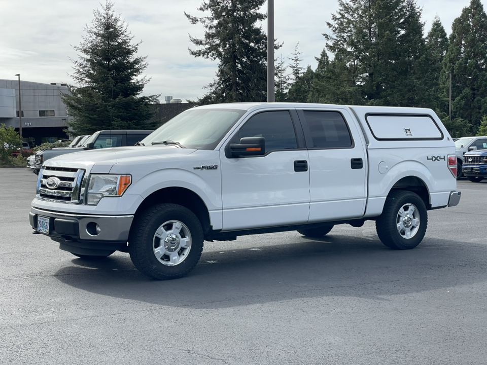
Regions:
M 218 62 L 215 79 L 196 104 L 266 101 L 267 38 L 259 23 L 265 0 L 203 0 L 190 35 L 189 52 Z M 327 22 L 326 47 L 316 69 L 301 67 L 298 45 L 292 57 L 275 59 L 275 99 L 353 105 L 432 108 L 454 137 L 487 128 L 487 15 L 480 0 L 471 0 L 447 36 L 436 17 L 425 33 L 415 0 L 338 0 Z M 209 15 L 208 15 L 209 14 Z M 154 128 L 151 103 L 159 96 L 140 96 L 147 67 L 136 56 L 138 44 L 127 24 L 107 0 L 95 10 L 91 27 L 75 49 L 70 95 L 64 95 L 76 134 L 102 128 Z M 304 42 L 304 41 L 303 41 Z M 282 44 L 275 43 L 278 51 Z M 452 120 L 449 120 L 451 76 Z M 483 120 L 483 123 L 482 123 Z

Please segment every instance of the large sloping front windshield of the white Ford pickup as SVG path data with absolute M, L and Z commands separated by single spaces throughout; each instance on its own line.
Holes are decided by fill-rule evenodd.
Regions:
M 213 150 L 245 113 L 238 109 L 188 109 L 149 134 L 142 143 L 171 141 L 186 148 Z

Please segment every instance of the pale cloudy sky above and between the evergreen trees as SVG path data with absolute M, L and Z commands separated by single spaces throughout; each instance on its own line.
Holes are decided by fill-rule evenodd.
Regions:
M 202 38 L 201 24 L 192 25 L 184 12 L 202 16 L 197 9 L 203 0 L 113 0 L 115 13 L 128 23 L 133 42 L 142 44 L 139 56 L 149 63 L 143 76 L 150 78 L 143 95 L 161 94 L 183 101 L 205 94 L 217 71 L 217 61 L 195 58 L 189 34 Z M 0 0 L 0 79 L 39 83 L 74 83 L 69 76 L 78 54 L 84 28 L 93 20 L 93 10 L 101 10 L 105 0 Z M 416 0 L 423 10 L 427 33 L 438 15 L 447 32 L 470 0 Z M 481 0 L 487 10 L 487 0 Z M 296 45 L 301 66 L 317 66 L 315 57 L 326 46 L 322 33 L 330 33 L 326 22 L 338 10 L 337 0 L 275 0 L 274 36 L 284 45 L 275 56 L 292 57 Z M 267 12 L 267 3 L 261 11 Z M 262 23 L 267 33 L 267 23 Z M 71 60 L 70 60 L 71 59 Z

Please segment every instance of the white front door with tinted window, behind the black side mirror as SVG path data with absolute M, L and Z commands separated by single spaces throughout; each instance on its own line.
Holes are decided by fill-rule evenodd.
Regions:
M 307 222 L 308 153 L 291 115 L 287 110 L 257 113 L 228 142 L 262 136 L 263 156 L 232 158 L 222 149 L 223 231 Z

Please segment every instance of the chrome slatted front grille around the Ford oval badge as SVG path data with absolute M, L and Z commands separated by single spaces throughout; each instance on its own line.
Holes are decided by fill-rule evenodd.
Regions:
M 45 166 L 39 172 L 37 195 L 40 199 L 48 201 L 83 204 L 84 174 L 85 170 L 82 169 Z M 60 180 L 54 189 L 46 185 L 50 177 Z

